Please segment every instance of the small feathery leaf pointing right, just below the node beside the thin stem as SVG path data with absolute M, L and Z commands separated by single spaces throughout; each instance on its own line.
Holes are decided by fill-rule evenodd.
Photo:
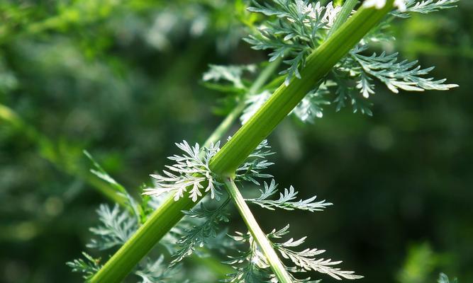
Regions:
M 274 210 L 275 208 L 285 209 L 285 210 L 307 210 L 309 212 L 316 212 L 322 211 L 329 205 L 332 205 L 330 202 L 325 202 L 325 200 L 321 200 L 316 202 L 316 196 L 310 197 L 307 200 L 296 200 L 297 194 L 294 190 L 294 187 L 289 187 L 288 189 L 284 189 L 283 192 L 279 192 L 279 199 L 272 200 L 271 198 L 277 194 L 277 183 L 274 179 L 271 180 L 269 185 L 265 182 L 265 190 L 260 190 L 261 195 L 260 197 L 254 199 L 247 199 L 247 202 L 251 202 L 253 204 L 257 204 L 262 208 Z

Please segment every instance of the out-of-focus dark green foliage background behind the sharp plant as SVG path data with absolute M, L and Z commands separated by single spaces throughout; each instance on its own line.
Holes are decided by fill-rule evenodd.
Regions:
M 138 194 L 174 142 L 203 142 L 222 119 L 223 94 L 201 83 L 208 64 L 266 59 L 240 40 L 245 5 L 0 1 L 0 282 L 81 282 L 65 262 L 108 202 L 82 150 Z M 374 117 L 330 108 L 269 137 L 269 173 L 335 205 L 277 220 L 255 209 L 263 227 L 289 221 L 358 282 L 473 282 L 473 1 L 459 6 L 396 21 L 384 49 L 460 88 L 379 91 Z

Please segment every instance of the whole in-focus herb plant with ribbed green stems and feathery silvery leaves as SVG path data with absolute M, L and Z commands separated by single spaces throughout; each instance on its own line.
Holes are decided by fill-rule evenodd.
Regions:
M 255 65 L 211 65 L 204 74 L 207 86 L 230 93 L 235 108 L 203 145 L 178 143 L 183 153 L 170 156 L 174 164 L 151 175 L 153 185 L 145 187 L 139 202 L 94 163 L 93 173 L 126 201 L 122 207 L 101 206 L 101 225 L 91 229 L 96 238 L 89 248 L 119 247 L 116 253 L 104 265 L 87 253 L 85 259 L 68 263 L 89 282 L 120 282 L 130 272 L 140 282 L 185 282 L 194 278 L 177 272 L 184 268 L 182 260 L 214 253 L 228 256 L 224 263 L 231 268 L 220 278 L 222 282 L 318 282 L 306 275 L 311 271 L 335 279 L 362 277 L 343 270 L 341 261 L 323 258 L 325 250 L 305 247 L 306 237 L 290 238 L 289 224 L 262 231 L 248 204 L 308 212 L 331 205 L 316 196 L 299 199 L 292 186 L 278 190 L 267 173 L 272 152 L 265 138 L 286 115 L 313 122 L 331 104 L 337 111 L 350 105 L 353 112 L 372 115 L 368 98 L 375 93 L 376 81 L 394 93 L 455 87 L 445 84 L 445 79 L 431 78 L 428 74 L 433 68 L 400 60 L 397 53 L 367 51 L 376 48 L 377 42 L 393 40 L 386 36 L 386 28 L 394 18 L 450 8 L 456 1 L 367 0 L 357 11 L 353 11 L 356 0 L 347 0 L 343 6 L 272 2 L 255 1 L 248 8 L 269 17 L 261 18 L 258 28 L 245 38 L 253 49 L 269 51 L 270 63 L 255 81 L 250 84 L 243 76 L 261 68 Z M 274 72 L 280 63 L 286 68 L 277 76 Z M 220 147 L 238 117 L 243 126 Z M 240 189 L 247 183 L 260 187 L 259 197 L 243 197 Z M 230 219 L 230 202 L 248 231 L 223 228 Z M 172 258 L 165 256 L 167 252 Z

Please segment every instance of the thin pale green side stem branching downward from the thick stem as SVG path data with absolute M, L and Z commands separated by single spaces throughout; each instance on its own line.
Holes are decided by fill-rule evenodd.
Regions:
M 279 260 L 279 257 L 277 256 L 276 251 L 272 248 L 272 244 L 269 242 L 266 234 L 262 231 L 260 225 L 258 225 L 255 216 L 253 216 L 251 213 L 250 207 L 247 206 L 245 199 L 241 195 L 233 179 L 226 178 L 225 185 L 228 194 L 235 202 L 238 212 L 240 212 L 243 221 L 245 221 L 245 224 L 256 243 L 258 246 L 260 246 L 262 253 L 265 255 L 266 260 L 268 261 L 269 266 L 274 272 L 274 275 L 276 275 L 278 281 L 281 283 L 291 283 L 291 276 L 286 271 L 286 268 L 284 268 L 281 260 Z

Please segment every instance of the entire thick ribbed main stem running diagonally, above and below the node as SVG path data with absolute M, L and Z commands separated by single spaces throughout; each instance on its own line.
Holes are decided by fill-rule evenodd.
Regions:
M 382 9 L 360 8 L 355 15 L 315 50 L 301 70 L 302 79 L 284 84 L 269 98 L 250 120 L 218 151 L 211 161 L 211 170 L 223 177 L 235 173 L 247 156 L 272 132 L 279 122 L 304 98 L 313 85 L 360 42 L 393 8 L 394 0 L 386 1 Z M 204 197 L 203 194 L 202 197 Z M 121 282 L 133 267 L 152 249 L 165 234 L 182 219 L 182 210 L 194 207 L 188 197 L 174 202 L 172 197 L 162 204 L 123 245 L 104 267 L 91 279 L 93 283 Z

